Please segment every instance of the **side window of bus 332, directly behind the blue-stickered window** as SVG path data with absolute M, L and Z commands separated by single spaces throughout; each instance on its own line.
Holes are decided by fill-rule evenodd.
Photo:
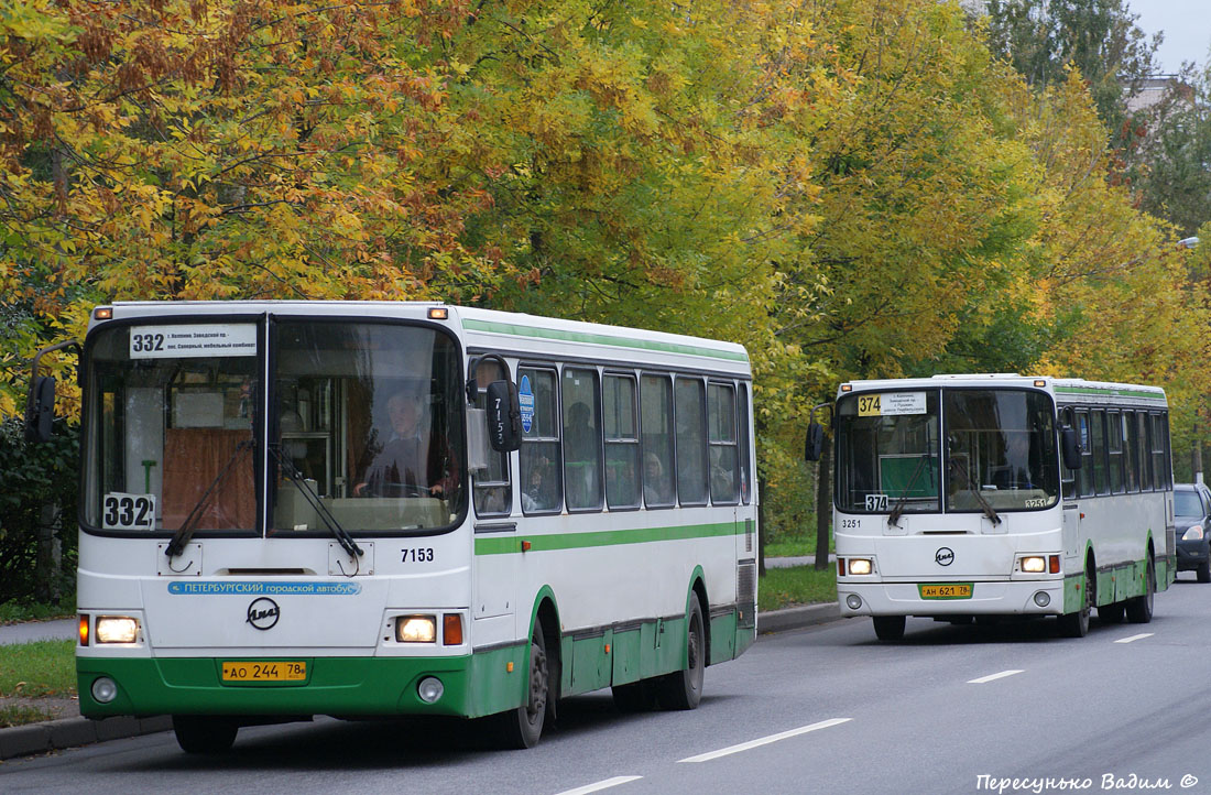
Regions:
M 597 371 L 563 368 L 563 491 L 568 510 L 602 507 Z

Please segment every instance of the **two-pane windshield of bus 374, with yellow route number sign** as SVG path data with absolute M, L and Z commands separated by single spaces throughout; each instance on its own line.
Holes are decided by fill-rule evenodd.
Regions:
M 860 393 L 837 405 L 837 508 L 986 513 L 1054 505 L 1055 406 L 1040 391 Z M 947 444 L 939 439 L 945 428 Z M 945 461 L 941 457 L 945 456 Z

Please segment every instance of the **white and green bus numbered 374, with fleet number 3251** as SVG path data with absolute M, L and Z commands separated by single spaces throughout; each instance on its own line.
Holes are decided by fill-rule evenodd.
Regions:
M 883 640 L 905 618 L 1147 623 L 1173 582 L 1165 393 L 1012 374 L 842 384 L 837 595 Z M 808 456 L 817 454 L 819 425 Z

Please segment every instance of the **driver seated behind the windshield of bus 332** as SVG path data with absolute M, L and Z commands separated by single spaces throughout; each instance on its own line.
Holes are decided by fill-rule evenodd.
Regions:
M 354 494 L 406 497 L 431 494 L 450 498 L 458 488 L 454 454 L 440 436 L 420 428 L 420 399 L 400 391 L 386 402 L 391 436 L 366 470 Z

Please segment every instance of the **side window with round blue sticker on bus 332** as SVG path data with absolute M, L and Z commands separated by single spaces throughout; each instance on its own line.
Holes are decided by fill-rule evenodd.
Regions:
M 555 371 L 522 367 L 517 371 L 517 381 L 522 401 L 522 447 L 518 453 L 522 510 L 558 511 L 563 484 L 559 476 L 561 423 Z

